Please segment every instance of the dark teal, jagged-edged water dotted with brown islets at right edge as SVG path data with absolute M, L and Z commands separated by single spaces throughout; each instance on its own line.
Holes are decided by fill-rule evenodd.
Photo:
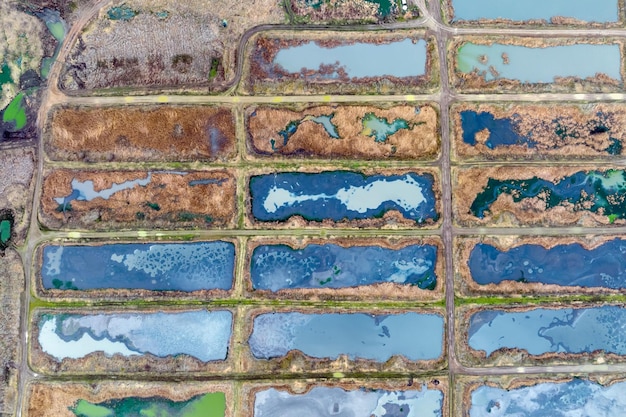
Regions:
M 579 171 L 551 182 L 538 177 L 521 180 L 489 178 L 470 207 L 470 212 L 482 219 L 500 194 L 509 194 L 514 202 L 538 198 L 546 210 L 567 206 L 571 211 L 602 212 L 611 222 L 626 218 L 626 171 Z

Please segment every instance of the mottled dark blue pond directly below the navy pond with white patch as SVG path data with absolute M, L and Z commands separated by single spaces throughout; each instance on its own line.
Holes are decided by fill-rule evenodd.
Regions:
M 255 289 L 346 288 L 394 282 L 432 290 L 437 285 L 437 247 L 287 245 L 258 246 L 252 253 L 250 275 Z

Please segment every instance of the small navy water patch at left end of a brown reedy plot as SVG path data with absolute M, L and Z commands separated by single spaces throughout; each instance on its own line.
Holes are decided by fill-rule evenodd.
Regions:
M 476 134 L 484 129 L 489 130 L 489 138 L 485 141 L 485 146 L 489 149 L 510 145 L 527 145 L 534 148 L 537 144 L 530 137 L 519 134 L 519 122 L 515 119 L 496 119 L 489 112 L 478 113 L 473 110 L 464 110 L 460 115 L 463 142 L 468 145 L 476 145 Z

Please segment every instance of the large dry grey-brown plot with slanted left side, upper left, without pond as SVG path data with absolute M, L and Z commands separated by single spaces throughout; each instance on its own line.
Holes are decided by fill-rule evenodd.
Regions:
M 283 21 L 282 5 L 270 0 L 112 3 L 80 35 L 60 86 L 222 90 L 234 80 L 235 51 L 244 32 Z

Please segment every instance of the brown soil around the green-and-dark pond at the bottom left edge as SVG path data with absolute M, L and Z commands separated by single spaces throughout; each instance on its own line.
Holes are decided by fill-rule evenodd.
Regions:
M 210 392 L 223 392 L 226 395 L 226 417 L 233 416 L 233 387 L 225 382 L 96 382 L 79 384 L 68 382 L 39 382 L 29 389 L 27 401 L 28 417 L 75 417 L 70 407 L 78 400 L 101 403 L 127 397 L 163 397 L 173 401 L 187 401 L 190 398 Z

